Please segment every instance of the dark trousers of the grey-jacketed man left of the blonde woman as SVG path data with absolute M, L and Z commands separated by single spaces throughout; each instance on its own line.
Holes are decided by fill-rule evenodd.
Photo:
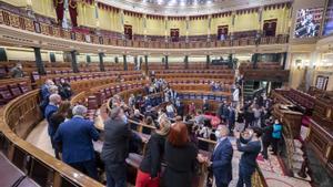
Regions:
M 108 187 L 127 187 L 125 163 L 112 163 L 104 160 Z

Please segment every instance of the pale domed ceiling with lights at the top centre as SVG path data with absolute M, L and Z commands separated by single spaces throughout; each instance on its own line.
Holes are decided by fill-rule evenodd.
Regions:
M 162 15 L 198 15 L 292 0 L 97 0 L 124 10 Z

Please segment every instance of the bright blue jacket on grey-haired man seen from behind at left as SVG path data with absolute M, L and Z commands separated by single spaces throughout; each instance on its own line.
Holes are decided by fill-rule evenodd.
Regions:
M 60 124 L 54 142 L 62 144 L 62 160 L 67 164 L 94 159 L 92 141 L 99 139 L 93 122 L 80 116 Z

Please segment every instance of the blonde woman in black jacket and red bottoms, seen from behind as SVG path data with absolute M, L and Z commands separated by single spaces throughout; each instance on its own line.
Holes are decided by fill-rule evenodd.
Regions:
M 164 117 L 155 126 L 157 131 L 151 135 L 145 146 L 145 154 L 138 170 L 135 187 L 159 187 L 160 185 L 165 136 L 170 131 L 171 123 Z

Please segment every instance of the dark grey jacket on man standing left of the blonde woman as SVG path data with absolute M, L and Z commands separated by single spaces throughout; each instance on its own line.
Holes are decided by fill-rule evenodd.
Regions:
M 124 163 L 129 155 L 131 136 L 130 125 L 122 120 L 107 120 L 104 122 L 104 144 L 101 158 L 112 163 Z

